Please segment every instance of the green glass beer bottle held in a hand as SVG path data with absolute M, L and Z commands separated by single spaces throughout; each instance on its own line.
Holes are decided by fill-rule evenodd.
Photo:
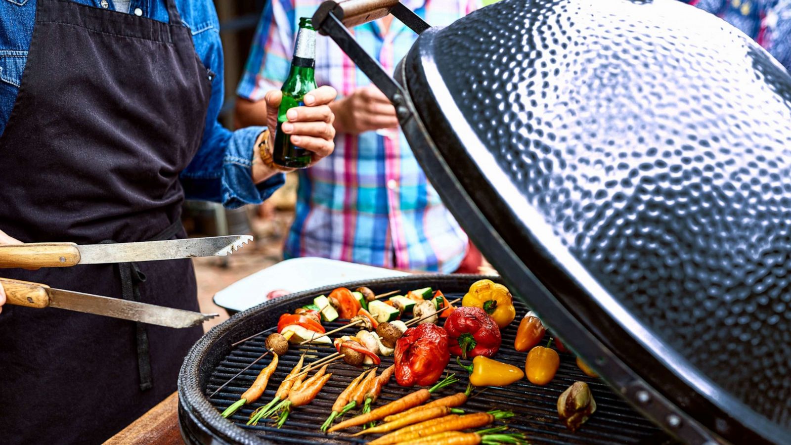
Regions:
M 282 124 L 288 119 L 286 112 L 291 108 L 304 105 L 302 98 L 316 89 L 314 78 L 316 65 L 316 29 L 308 17 L 301 17 L 291 71 L 283 83 L 283 101 L 278 109 L 278 130 L 274 134 L 272 160 L 277 165 L 291 169 L 304 169 L 310 164 L 311 152 L 291 143 L 290 135 L 281 131 Z

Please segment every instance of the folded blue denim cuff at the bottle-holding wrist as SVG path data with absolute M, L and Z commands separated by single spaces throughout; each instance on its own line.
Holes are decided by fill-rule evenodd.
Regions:
M 278 173 L 261 184 L 252 182 L 252 150 L 255 139 L 266 127 L 246 127 L 234 131 L 228 141 L 223 160 L 222 203 L 228 208 L 244 204 L 262 203 L 285 184 L 286 177 Z

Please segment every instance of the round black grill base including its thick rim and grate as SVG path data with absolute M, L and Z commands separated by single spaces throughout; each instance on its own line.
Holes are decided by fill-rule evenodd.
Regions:
M 382 293 L 395 289 L 418 289 L 433 287 L 445 292 L 448 297 L 463 296 L 471 283 L 481 276 L 417 276 L 374 282 L 349 283 L 344 286 L 355 288 L 369 286 L 373 291 Z M 494 279 L 498 280 L 498 279 Z M 299 352 L 292 348 L 280 359 L 278 371 L 272 377 L 266 393 L 259 401 L 246 405 L 229 420 L 220 416 L 223 409 L 234 401 L 255 380 L 259 371 L 269 363 L 263 359 L 240 375 L 229 386 L 209 397 L 214 390 L 229 378 L 236 375 L 263 352 L 263 340 L 267 334 L 247 340 L 237 347 L 231 344 L 249 337 L 254 333 L 274 326 L 280 314 L 303 306 L 317 295 L 327 295 L 331 287 L 316 291 L 301 292 L 282 299 L 265 302 L 243 313 L 235 315 L 229 321 L 212 329 L 195 348 L 192 349 L 184 362 L 179 378 L 179 417 L 182 434 L 187 443 L 361 443 L 350 440 L 348 434 L 324 435 L 319 432 L 321 424 L 329 415 L 335 397 L 348 385 L 352 378 L 359 375 L 360 369 L 350 367 L 346 363 L 330 367 L 333 378 L 327 383 L 312 404 L 293 410 L 283 428 L 274 428 L 271 422 L 260 423 L 256 427 L 248 427 L 245 423 L 255 408 L 267 403 L 274 397 L 279 382 L 286 376 L 299 357 Z M 526 308 L 517 302 L 517 311 L 524 314 Z M 339 327 L 342 323 L 325 323 L 329 330 Z M 498 352 L 497 359 L 524 368 L 526 353 L 513 350 L 513 339 L 517 323 L 513 323 L 503 331 L 503 348 Z M 354 334 L 358 329 L 347 329 L 346 333 Z M 554 333 L 548 333 L 547 339 Z M 331 347 L 316 348 L 316 357 L 327 356 L 335 349 Z M 670 443 L 668 435 L 653 425 L 645 417 L 631 409 L 629 405 L 600 379 L 584 375 L 575 363 L 573 354 L 561 353 L 561 367 L 558 375 L 547 386 L 532 385 L 526 379 L 505 388 L 489 388 L 467 402 L 465 408 L 486 411 L 489 409 L 513 409 L 517 416 L 508 420 L 508 424 L 516 430 L 528 434 L 532 443 Z M 392 364 L 392 357 L 384 357 L 380 369 Z M 448 370 L 461 377 L 461 382 L 445 388 L 439 395 L 453 394 L 464 390 L 467 384 L 466 371 L 452 363 Z M 593 397 L 598 409 L 588 423 L 577 432 L 566 430 L 557 416 L 556 403 L 560 393 L 573 382 L 582 380 L 591 386 Z M 401 397 L 414 388 L 402 388 L 395 383 L 395 378 L 385 387 L 380 401 Z M 475 393 L 474 393 L 475 394 Z M 357 429 L 351 430 L 357 431 Z

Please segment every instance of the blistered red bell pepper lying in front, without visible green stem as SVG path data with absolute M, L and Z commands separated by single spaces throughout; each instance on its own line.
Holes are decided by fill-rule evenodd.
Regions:
M 395 381 L 400 386 L 429 386 L 450 361 L 448 333 L 431 323 L 407 329 L 395 342 Z

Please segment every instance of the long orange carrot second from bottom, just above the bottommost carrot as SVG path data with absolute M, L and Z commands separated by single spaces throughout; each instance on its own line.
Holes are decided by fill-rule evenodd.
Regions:
M 411 424 L 398 431 L 385 434 L 369 442 L 369 445 L 388 445 L 390 443 L 403 443 L 408 440 L 420 439 L 441 432 L 460 431 L 467 428 L 480 428 L 491 424 L 494 420 L 505 419 L 513 416 L 509 411 L 490 411 L 488 413 L 471 413 L 458 416 L 450 414 L 438 419 L 425 420 L 418 424 Z

